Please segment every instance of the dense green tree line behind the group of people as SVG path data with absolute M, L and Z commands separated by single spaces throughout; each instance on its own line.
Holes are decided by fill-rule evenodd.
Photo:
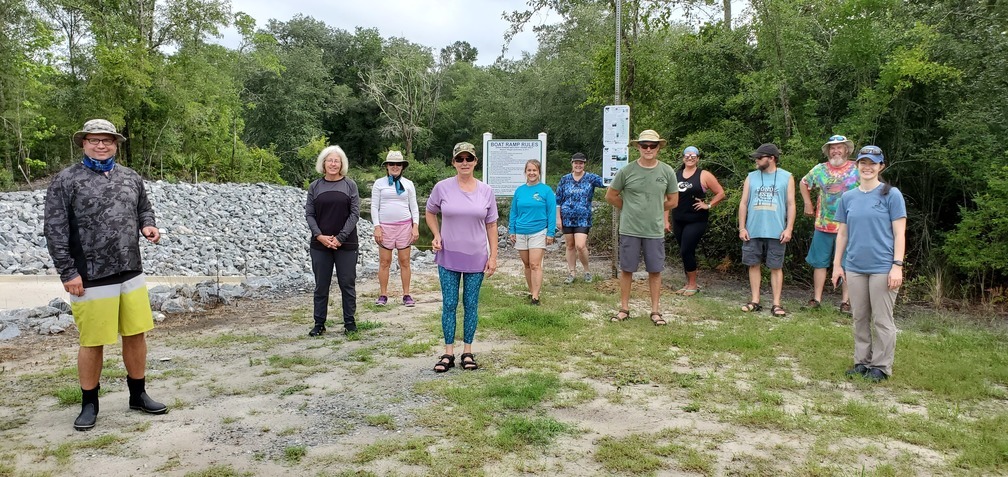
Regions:
M 94 117 L 121 128 L 119 160 L 152 180 L 303 186 L 327 143 L 373 178 L 394 146 L 423 194 L 449 173 L 452 145 L 485 131 L 544 131 L 550 170 L 576 151 L 597 170 L 602 107 L 616 102 L 615 7 L 530 0 L 506 15 L 508 36 L 536 11 L 561 18 L 535 26 L 538 50 L 477 66 L 465 31 L 434 49 L 304 15 L 257 25 L 227 0 L 0 0 L 0 187 L 78 160 L 70 136 Z M 748 153 L 773 141 L 800 176 L 839 133 L 885 151 L 884 175 L 910 213 L 911 287 L 933 301 L 1008 296 L 1008 2 L 621 7 L 619 102 L 632 131 L 659 131 L 673 164 L 682 146 L 700 147 L 729 192 L 702 249 L 712 263 L 737 262 Z M 213 41 L 227 26 L 236 48 Z M 810 220 L 792 250 L 807 246 L 803 230 Z

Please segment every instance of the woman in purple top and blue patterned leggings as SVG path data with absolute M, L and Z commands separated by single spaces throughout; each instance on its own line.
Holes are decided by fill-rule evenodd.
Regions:
M 425 219 L 433 233 L 431 247 L 442 285 L 442 331 L 445 354 L 434 365 L 443 373 L 455 366 L 456 310 L 462 285 L 463 369 L 479 367 L 473 356 L 483 278 L 497 270 L 497 200 L 494 190 L 473 175 L 476 147 L 460 142 L 452 151 L 456 175 L 437 183 L 427 199 Z M 437 215 L 440 214 L 440 224 Z

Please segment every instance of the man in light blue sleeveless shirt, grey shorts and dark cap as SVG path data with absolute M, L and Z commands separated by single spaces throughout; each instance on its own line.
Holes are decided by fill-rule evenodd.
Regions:
M 739 201 L 739 238 L 742 239 L 742 263 L 749 267 L 749 303 L 743 312 L 758 312 L 760 306 L 760 264 L 770 268 L 774 317 L 787 312 L 780 304 L 784 287 L 784 251 L 794 228 L 794 177 L 780 168 L 780 149 L 772 143 L 760 145 L 750 156 L 756 170 L 749 172 Z

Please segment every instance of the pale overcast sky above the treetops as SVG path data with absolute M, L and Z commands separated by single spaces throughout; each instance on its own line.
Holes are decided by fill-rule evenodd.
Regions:
M 286 21 L 298 13 L 334 28 L 353 32 L 358 26 L 378 28 L 383 38 L 400 36 L 436 51 L 457 40 L 469 41 L 479 50 L 478 65 L 490 65 L 500 54 L 508 22 L 505 11 L 523 9 L 525 0 L 231 0 L 231 11 L 243 11 L 262 27 L 271 18 Z M 541 15 L 532 24 L 558 20 Z M 223 31 L 219 41 L 237 47 L 234 28 Z M 511 41 L 508 57 L 534 52 L 538 42 L 531 26 Z

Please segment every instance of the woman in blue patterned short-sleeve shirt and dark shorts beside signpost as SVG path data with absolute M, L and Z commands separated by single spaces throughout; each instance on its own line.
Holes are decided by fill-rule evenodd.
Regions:
M 560 177 L 556 185 L 556 223 L 563 231 L 566 244 L 568 277 L 573 283 L 578 260 L 585 267 L 585 281 L 592 281 L 588 267 L 588 232 L 592 228 L 592 198 L 596 189 L 602 189 L 602 176 L 585 171 L 588 157 L 578 152 L 571 157 L 571 173 Z

